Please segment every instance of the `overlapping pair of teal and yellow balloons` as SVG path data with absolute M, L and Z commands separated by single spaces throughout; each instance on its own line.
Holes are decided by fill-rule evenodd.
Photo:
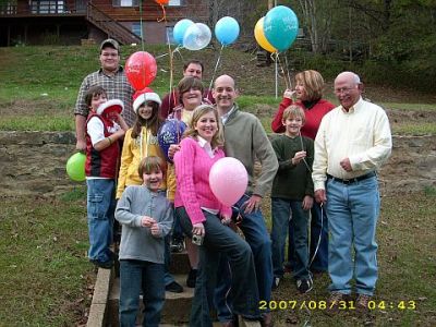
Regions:
M 292 9 L 278 5 L 257 21 L 254 37 L 268 52 L 281 52 L 291 47 L 299 34 L 299 20 Z

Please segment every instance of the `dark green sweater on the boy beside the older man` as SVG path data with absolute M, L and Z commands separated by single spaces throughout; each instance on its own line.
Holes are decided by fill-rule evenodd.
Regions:
M 304 136 L 279 135 L 271 143 L 279 161 L 279 169 L 272 182 L 271 197 L 303 201 L 306 195 L 314 196 L 311 171 L 314 159 L 314 142 Z M 303 160 L 292 165 L 295 153 L 301 150 L 306 152 L 305 161 L 308 168 Z

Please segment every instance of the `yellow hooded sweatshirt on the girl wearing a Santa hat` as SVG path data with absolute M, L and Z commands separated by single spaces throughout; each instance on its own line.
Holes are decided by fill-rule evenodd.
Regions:
M 118 177 L 117 198 L 121 197 L 122 192 L 129 185 L 141 185 L 142 178 L 137 172 L 140 162 L 147 156 L 157 156 L 167 165 L 167 159 L 159 147 L 157 136 L 154 136 L 146 128 L 141 129 L 141 135 L 132 137 L 132 129 L 125 132 L 123 148 L 121 153 L 121 167 Z M 164 167 L 165 168 L 165 167 Z M 160 185 L 161 190 L 167 187 L 166 181 Z

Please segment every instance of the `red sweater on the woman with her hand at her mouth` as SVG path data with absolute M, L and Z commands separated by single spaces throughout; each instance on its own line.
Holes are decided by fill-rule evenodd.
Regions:
M 276 113 L 276 117 L 271 121 L 271 129 L 275 133 L 283 133 L 284 126 L 281 122 L 283 117 L 283 111 L 286 108 L 292 105 L 292 100 L 288 98 L 283 98 L 280 102 L 279 110 Z M 335 108 L 335 105 L 330 104 L 327 100 L 319 99 L 312 108 L 306 108 L 302 101 L 296 101 L 296 106 L 300 106 L 304 109 L 304 113 L 306 117 L 306 122 L 301 129 L 301 134 L 303 136 L 307 136 L 312 140 L 315 140 L 316 133 L 318 132 L 320 121 L 328 111 Z

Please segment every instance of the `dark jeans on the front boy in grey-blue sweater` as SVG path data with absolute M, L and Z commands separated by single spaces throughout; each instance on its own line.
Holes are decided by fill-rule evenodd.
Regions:
M 143 290 L 143 326 L 159 326 L 165 303 L 164 265 L 120 261 L 120 327 L 134 327 Z

